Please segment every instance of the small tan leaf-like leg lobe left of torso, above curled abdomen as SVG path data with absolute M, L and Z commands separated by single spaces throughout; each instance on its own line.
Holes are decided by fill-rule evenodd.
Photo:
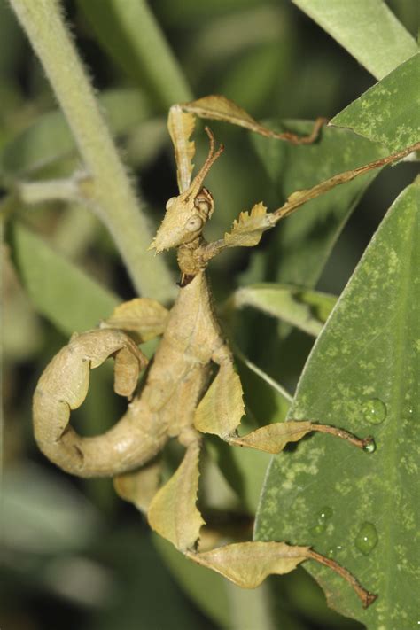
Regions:
M 155 299 L 135 298 L 122 302 L 113 315 L 101 323 L 101 328 L 128 331 L 141 344 L 165 331 L 169 311 Z

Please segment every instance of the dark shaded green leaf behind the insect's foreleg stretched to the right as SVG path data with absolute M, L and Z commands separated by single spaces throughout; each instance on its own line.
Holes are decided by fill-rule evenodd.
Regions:
M 278 128 L 278 123 L 268 122 Z M 287 129 L 306 135 L 313 123 L 292 121 Z M 315 144 L 292 146 L 269 138 L 253 142 L 274 184 L 276 206 L 294 191 L 323 182 L 332 175 L 385 157 L 386 150 L 346 129 L 323 128 Z M 314 286 L 338 235 L 377 171 L 362 175 L 307 203 L 276 229 L 269 262 L 281 283 Z M 271 268 L 271 277 L 273 272 Z

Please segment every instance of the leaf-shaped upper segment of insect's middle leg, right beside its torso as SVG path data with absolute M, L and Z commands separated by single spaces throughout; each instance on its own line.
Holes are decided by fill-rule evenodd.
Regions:
M 194 426 L 202 433 L 214 433 L 223 438 L 235 431 L 242 416 L 244 402 L 240 378 L 230 362 L 223 362 L 196 409 Z

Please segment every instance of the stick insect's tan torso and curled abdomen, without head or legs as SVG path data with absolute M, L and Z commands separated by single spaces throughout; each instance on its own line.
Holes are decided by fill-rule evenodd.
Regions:
M 127 412 L 109 431 L 82 438 L 68 424 L 70 408 L 84 400 L 92 348 L 106 332 L 110 331 L 91 331 L 74 338 L 44 370 L 34 397 L 39 447 L 63 470 L 81 477 L 112 476 L 142 466 L 159 453 L 168 438 L 192 427 L 194 411 L 210 377 L 210 361 L 223 343 L 206 275 L 200 272 L 180 289 L 144 387 Z M 127 344 L 129 338 L 120 332 L 118 342 Z M 108 348 L 109 354 L 116 350 L 115 345 Z M 83 393 L 70 407 L 66 384 L 72 392 L 79 387 L 74 385 L 81 378 L 78 373 L 85 379 L 86 392 L 83 386 Z M 46 417 L 51 423 L 45 422 Z

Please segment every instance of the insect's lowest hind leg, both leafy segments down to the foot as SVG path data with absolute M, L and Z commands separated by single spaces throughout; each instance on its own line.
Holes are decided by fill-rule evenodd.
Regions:
M 250 541 L 198 551 L 198 537 L 204 525 L 196 506 L 201 439 L 198 432 L 187 429 L 181 441 L 186 446 L 183 462 L 167 484 L 159 489 L 147 511 L 152 529 L 160 536 L 172 542 L 194 563 L 221 573 L 239 587 L 258 587 L 268 575 L 291 572 L 301 562 L 312 559 L 329 566 L 346 579 L 365 607 L 375 601 L 376 595 L 365 590 L 350 572 L 309 547 L 294 547 L 276 541 Z

